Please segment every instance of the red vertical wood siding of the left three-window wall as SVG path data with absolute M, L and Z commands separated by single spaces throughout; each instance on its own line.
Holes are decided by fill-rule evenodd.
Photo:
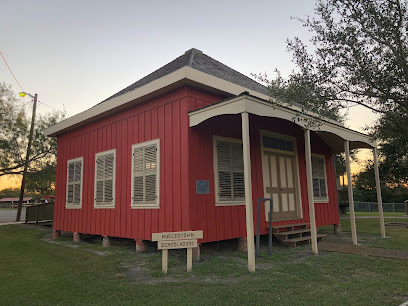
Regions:
M 190 229 L 187 87 L 136 105 L 57 138 L 54 228 L 151 239 L 161 231 Z M 160 139 L 160 209 L 131 209 L 132 145 Z M 116 149 L 114 209 L 94 209 L 95 154 Z M 67 161 L 83 157 L 82 208 L 66 209 Z

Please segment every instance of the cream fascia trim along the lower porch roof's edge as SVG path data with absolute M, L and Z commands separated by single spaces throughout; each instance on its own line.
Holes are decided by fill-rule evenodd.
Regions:
M 248 95 L 241 95 L 233 99 L 229 99 L 204 107 L 202 109 L 192 111 L 189 113 L 189 124 L 190 127 L 193 127 L 212 117 L 226 114 L 240 114 L 243 112 L 263 117 L 281 118 L 294 122 L 297 125 L 303 128 L 308 128 L 312 131 L 327 132 L 337 135 L 343 140 L 348 140 L 350 142 L 356 143 L 361 142 L 372 148 L 377 147 L 376 141 L 372 141 L 371 137 L 366 134 L 348 129 L 338 123 L 334 124 L 328 120 L 318 119 L 312 115 L 299 114 L 299 112 L 293 109 L 276 106 L 267 101 L 260 100 L 256 97 L 251 97 Z M 299 120 L 294 121 L 293 119 L 296 115 L 298 115 Z M 319 120 L 320 125 L 316 127 L 307 127 L 305 120 L 302 120 L 302 118 Z

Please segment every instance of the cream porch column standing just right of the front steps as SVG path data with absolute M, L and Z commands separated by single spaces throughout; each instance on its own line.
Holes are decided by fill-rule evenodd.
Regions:
M 313 178 L 312 178 L 312 150 L 310 146 L 310 130 L 305 130 L 305 157 L 306 157 L 306 178 L 307 178 L 307 198 L 309 203 L 309 218 L 310 218 L 310 233 L 312 238 L 312 251 L 317 255 L 317 228 L 316 217 L 314 211 L 313 198 Z

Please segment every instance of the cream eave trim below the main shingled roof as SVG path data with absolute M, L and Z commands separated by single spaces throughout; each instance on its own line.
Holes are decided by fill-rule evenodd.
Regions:
M 53 125 L 49 127 L 48 129 L 46 129 L 44 134 L 46 136 L 56 136 L 63 132 L 72 130 L 86 123 L 95 121 L 102 117 L 105 117 L 117 111 L 116 109 L 118 108 L 123 109 L 124 107 L 127 107 L 128 105 L 126 104 L 130 102 L 132 102 L 132 104 L 141 103 L 145 101 L 142 99 L 143 97 L 146 98 L 146 96 L 148 96 L 149 94 L 159 92 L 160 90 L 163 90 L 164 88 L 174 85 L 175 83 L 183 81 L 183 80 L 190 80 L 192 82 L 203 84 L 204 86 L 208 86 L 208 87 L 217 89 L 219 91 L 229 93 L 231 95 L 239 95 L 242 92 L 247 91 L 252 96 L 255 96 L 255 97 L 258 97 L 264 100 L 270 99 L 270 97 L 267 95 L 261 94 L 259 92 L 250 90 L 246 87 L 242 87 L 240 85 L 231 83 L 229 81 L 220 79 L 210 74 L 207 74 L 207 73 L 198 71 L 196 69 L 193 69 L 191 67 L 185 66 L 168 75 L 165 75 L 164 77 L 154 80 L 142 87 L 136 88 L 133 91 L 124 93 L 118 97 L 115 97 L 103 103 L 97 104 L 94 107 L 86 111 L 83 111 L 77 115 L 69 117 L 61 121 L 60 123 L 57 123 L 56 125 Z M 301 108 L 294 106 L 294 105 L 291 105 L 288 107 L 295 111 L 301 110 Z M 330 122 L 336 123 L 336 124 L 341 124 L 331 119 L 327 119 L 327 120 Z

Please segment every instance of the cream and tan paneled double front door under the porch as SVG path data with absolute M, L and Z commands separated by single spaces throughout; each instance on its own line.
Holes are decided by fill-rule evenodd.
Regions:
M 262 155 L 264 196 L 273 199 L 273 221 L 297 219 L 296 155 L 268 150 Z M 269 205 L 265 213 L 269 221 Z

